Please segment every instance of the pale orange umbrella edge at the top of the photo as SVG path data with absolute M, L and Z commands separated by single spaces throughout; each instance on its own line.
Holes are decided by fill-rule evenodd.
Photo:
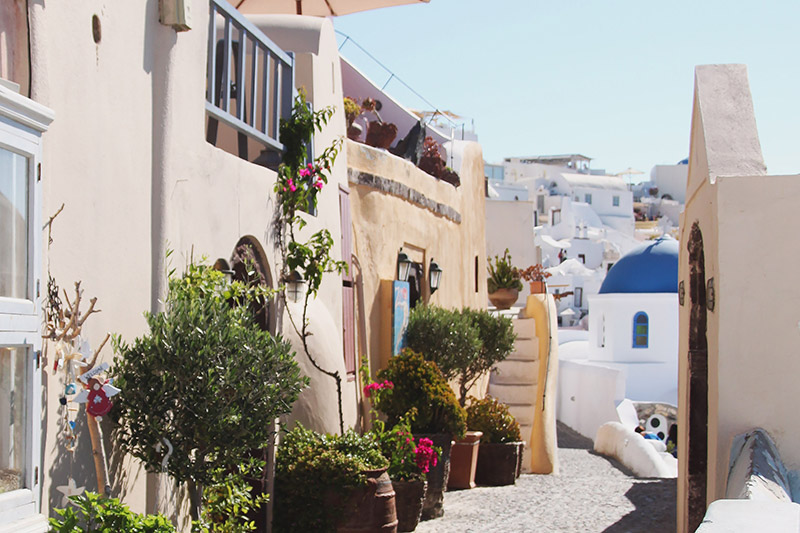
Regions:
M 335 17 L 381 7 L 428 2 L 430 0 L 234 0 L 231 3 L 236 9 L 248 15 L 297 14 Z

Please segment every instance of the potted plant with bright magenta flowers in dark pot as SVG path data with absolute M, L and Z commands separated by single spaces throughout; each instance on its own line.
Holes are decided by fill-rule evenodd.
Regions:
M 431 439 L 414 437 L 411 420 L 415 415 L 416 409 L 411 409 L 391 429 L 387 429 L 387 424 L 382 420 L 375 420 L 370 431 L 381 453 L 389 461 L 387 473 L 394 487 L 397 531 L 400 532 L 417 528 L 428 488 L 426 477 L 431 468 L 438 464 L 441 453 L 441 449 L 433 446 Z

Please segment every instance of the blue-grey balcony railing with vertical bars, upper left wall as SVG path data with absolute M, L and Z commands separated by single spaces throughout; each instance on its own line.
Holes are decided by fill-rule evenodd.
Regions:
M 206 72 L 206 139 L 217 144 L 219 122 L 236 130 L 239 157 L 248 159 L 248 138 L 283 150 L 280 119 L 294 95 L 294 57 L 225 0 L 209 0 Z

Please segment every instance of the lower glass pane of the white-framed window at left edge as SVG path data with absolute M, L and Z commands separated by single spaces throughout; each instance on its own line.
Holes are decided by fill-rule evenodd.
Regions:
M 27 348 L 0 347 L 0 494 L 25 487 L 27 360 Z

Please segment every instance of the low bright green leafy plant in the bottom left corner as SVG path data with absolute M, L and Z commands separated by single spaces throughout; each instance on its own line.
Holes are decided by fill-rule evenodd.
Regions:
M 94 492 L 70 496 L 74 506 L 55 509 L 59 518 L 50 519 L 53 533 L 115 532 L 173 533 L 175 526 L 163 515 L 139 515 L 116 498 Z

